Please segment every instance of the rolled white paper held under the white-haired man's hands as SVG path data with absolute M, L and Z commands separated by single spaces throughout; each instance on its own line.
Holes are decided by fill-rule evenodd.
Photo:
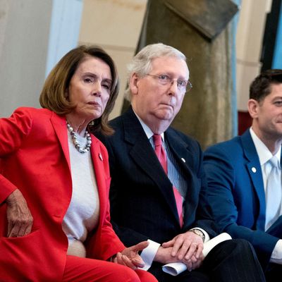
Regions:
M 228 233 L 221 233 L 211 240 L 208 240 L 206 243 L 204 243 L 204 257 L 206 257 L 209 251 L 212 250 L 212 248 L 217 244 L 230 239 L 232 239 L 231 235 L 229 235 Z M 171 262 L 170 264 L 165 264 L 162 268 L 164 272 L 173 276 L 176 276 L 187 269 L 186 265 L 183 264 L 183 262 Z

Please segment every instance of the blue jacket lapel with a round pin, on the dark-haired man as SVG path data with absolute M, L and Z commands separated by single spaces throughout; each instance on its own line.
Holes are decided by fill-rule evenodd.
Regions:
M 259 157 L 257 155 L 257 150 L 255 149 L 255 144 L 252 141 L 252 137 L 250 135 L 250 130 L 247 130 L 242 135 L 241 141 L 245 158 L 247 159 L 247 171 L 250 175 L 250 179 L 252 180 L 252 184 L 255 187 L 255 191 L 257 192 L 257 197 L 259 198 L 260 212 L 257 222 L 260 227 L 259 229 L 264 230 L 266 210 L 264 180 L 262 178 L 262 168 L 259 163 Z

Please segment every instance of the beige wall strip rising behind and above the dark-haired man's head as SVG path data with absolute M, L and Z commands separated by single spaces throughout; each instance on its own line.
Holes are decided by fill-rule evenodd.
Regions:
M 247 111 L 249 86 L 259 74 L 266 13 L 272 0 L 242 0 L 236 35 L 238 111 Z

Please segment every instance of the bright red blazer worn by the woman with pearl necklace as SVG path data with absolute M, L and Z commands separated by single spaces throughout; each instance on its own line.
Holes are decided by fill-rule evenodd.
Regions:
M 109 216 L 109 164 L 93 135 L 91 155 L 99 190 L 99 225 L 87 257 L 108 259 L 123 250 Z M 6 197 L 20 189 L 34 218 L 32 232 L 7 238 Z M 68 240 L 61 223 L 71 201 L 66 118 L 48 109 L 19 108 L 0 119 L 0 281 L 61 281 Z

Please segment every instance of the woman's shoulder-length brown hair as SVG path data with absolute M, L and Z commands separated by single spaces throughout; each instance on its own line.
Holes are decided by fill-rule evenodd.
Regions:
M 75 71 L 80 66 L 80 63 L 85 61 L 85 58 L 89 56 L 104 61 L 111 69 L 112 79 L 110 97 L 108 103 L 106 104 L 104 113 L 102 116 L 92 121 L 89 124 L 89 127 L 92 132 L 101 130 L 105 135 L 110 135 L 114 132 L 114 130 L 108 125 L 108 118 L 111 110 L 114 108 L 116 97 L 118 96 L 118 73 L 113 59 L 111 59 L 109 54 L 100 47 L 87 47 L 82 45 L 72 49 L 63 56 L 45 80 L 39 102 L 42 108 L 54 111 L 56 114 L 66 115 L 71 113 L 75 106 L 66 98 L 66 90 L 68 89 Z

